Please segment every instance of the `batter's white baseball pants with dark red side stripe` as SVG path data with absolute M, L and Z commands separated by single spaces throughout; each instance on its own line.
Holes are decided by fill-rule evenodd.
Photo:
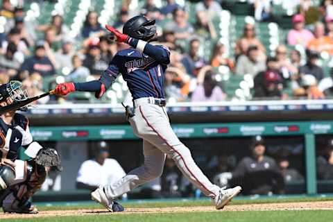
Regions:
M 189 148 L 182 144 L 173 132 L 167 110 L 148 101 L 148 98 L 136 99 L 135 116 L 129 119 L 135 135 L 143 139 L 144 164 L 114 184 L 106 185 L 105 194 L 110 199 L 116 198 L 161 176 L 167 154 L 203 194 L 211 198 L 218 196 L 220 188 L 208 180 L 191 157 Z

